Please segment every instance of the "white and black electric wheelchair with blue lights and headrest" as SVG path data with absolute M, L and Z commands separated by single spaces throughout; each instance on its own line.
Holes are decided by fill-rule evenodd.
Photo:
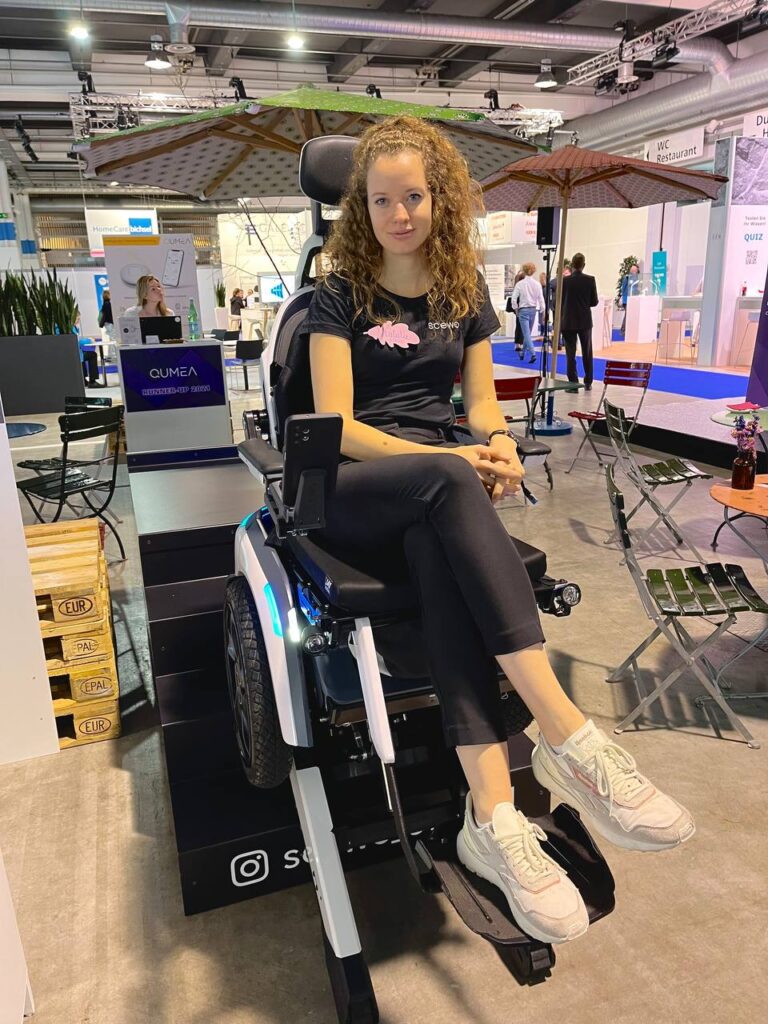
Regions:
M 227 680 L 243 766 L 259 787 L 290 778 L 323 922 L 326 961 L 342 1024 L 378 1021 L 343 864 L 401 851 L 426 893 L 444 892 L 466 924 L 493 942 L 518 981 L 546 978 L 552 947 L 512 920 L 503 895 L 466 872 L 456 855 L 466 782 L 445 745 L 419 642 L 416 593 L 401 565 L 372 552 L 350 564 L 323 546 L 339 462 L 341 418 L 313 415 L 308 337 L 312 259 L 338 206 L 355 140 L 307 142 L 300 186 L 314 234 L 300 257 L 298 289 L 282 305 L 262 355 L 265 411 L 246 413 L 239 454 L 265 486 L 265 504 L 240 526 L 236 574 L 224 609 Z M 415 526 L 414 529 L 424 527 Z M 547 575 L 544 552 L 514 542 L 540 608 L 566 615 L 579 588 Z M 515 799 L 548 835 L 595 921 L 613 908 L 613 880 L 574 811 L 549 813 L 532 777 L 531 718 L 500 673 Z M 506 692 L 504 692 L 506 691 Z

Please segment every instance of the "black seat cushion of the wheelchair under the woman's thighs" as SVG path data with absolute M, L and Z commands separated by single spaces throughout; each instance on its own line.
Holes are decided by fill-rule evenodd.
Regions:
M 510 538 L 523 560 L 530 580 L 536 583 L 547 572 L 547 556 L 529 544 Z M 354 615 L 373 615 L 418 609 L 416 591 L 411 585 L 404 557 L 391 550 L 373 553 L 362 559 L 329 545 L 322 547 L 309 537 L 287 539 L 288 548 L 304 571 L 319 587 L 335 607 Z

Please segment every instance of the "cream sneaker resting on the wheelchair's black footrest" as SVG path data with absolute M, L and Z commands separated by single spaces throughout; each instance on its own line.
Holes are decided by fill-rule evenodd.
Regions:
M 514 804 L 497 804 L 493 821 L 478 825 L 468 794 L 456 849 L 465 867 L 501 889 L 523 932 L 541 942 L 567 942 L 584 935 L 589 916 L 582 894 L 541 848 L 546 839 Z

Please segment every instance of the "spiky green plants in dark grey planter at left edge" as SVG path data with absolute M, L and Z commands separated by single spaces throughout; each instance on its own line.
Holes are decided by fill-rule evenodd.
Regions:
M 7 416 L 60 413 L 84 397 L 75 295 L 55 270 L 0 273 L 0 389 Z

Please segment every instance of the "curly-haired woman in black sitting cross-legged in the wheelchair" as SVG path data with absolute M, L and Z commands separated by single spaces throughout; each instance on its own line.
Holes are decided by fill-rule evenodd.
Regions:
M 668 850 L 694 824 L 563 692 L 494 508 L 524 471 L 494 392 L 480 208 L 464 158 L 428 122 L 398 117 L 360 137 L 306 324 L 315 411 L 343 417 L 326 537 L 404 552 L 445 736 L 469 784 L 459 857 L 534 938 L 564 942 L 587 930 L 587 910 L 515 808 L 497 663 L 539 725 L 537 779 L 589 827 L 625 849 Z M 471 436 L 454 425 L 459 371 Z

